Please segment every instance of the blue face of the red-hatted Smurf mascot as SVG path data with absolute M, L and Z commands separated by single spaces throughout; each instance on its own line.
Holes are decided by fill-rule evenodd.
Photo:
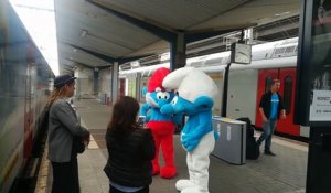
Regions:
M 163 105 L 169 104 L 174 97 L 172 92 L 152 92 L 146 95 L 148 105 L 154 108 L 161 108 Z

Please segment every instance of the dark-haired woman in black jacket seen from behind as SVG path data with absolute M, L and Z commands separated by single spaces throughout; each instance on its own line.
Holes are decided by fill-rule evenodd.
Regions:
M 106 132 L 108 160 L 104 169 L 110 193 L 149 192 L 154 142 L 150 129 L 138 126 L 138 101 L 129 96 L 114 105 Z

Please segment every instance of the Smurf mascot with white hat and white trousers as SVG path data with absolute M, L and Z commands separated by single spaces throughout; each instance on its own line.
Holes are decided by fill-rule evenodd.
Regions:
M 171 104 L 161 108 L 163 114 L 184 112 L 189 119 L 181 132 L 181 143 L 188 151 L 189 180 L 179 180 L 175 187 L 181 193 L 209 193 L 210 153 L 217 133 L 212 128 L 213 98 L 217 86 L 211 77 L 193 67 L 179 68 L 169 74 L 163 87 L 178 89 Z

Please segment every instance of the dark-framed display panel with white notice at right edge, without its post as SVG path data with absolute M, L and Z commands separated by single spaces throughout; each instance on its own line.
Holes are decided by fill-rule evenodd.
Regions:
M 297 124 L 331 124 L 331 1 L 302 3 L 298 52 Z

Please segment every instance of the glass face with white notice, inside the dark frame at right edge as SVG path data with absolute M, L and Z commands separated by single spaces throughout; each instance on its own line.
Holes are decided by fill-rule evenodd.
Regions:
M 331 1 L 316 0 L 311 25 L 310 121 L 331 121 Z

